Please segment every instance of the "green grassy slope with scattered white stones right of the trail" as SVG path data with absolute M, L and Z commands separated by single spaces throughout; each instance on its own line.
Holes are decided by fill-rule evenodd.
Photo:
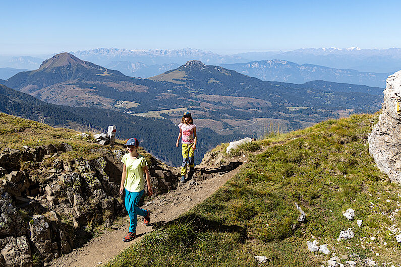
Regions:
M 320 266 L 329 256 L 309 252 L 306 241 L 312 240 L 327 243 L 337 255 L 400 264 L 401 246 L 388 228 L 399 227 L 401 189 L 380 173 L 368 152 L 377 117 L 328 120 L 259 141 L 284 143 L 251 157 L 211 197 L 108 265 L 257 266 L 254 256 L 263 255 L 273 266 Z M 306 224 L 297 222 L 295 202 L 306 212 Z M 342 215 L 348 208 L 356 211 L 354 221 Z M 355 237 L 337 242 L 350 227 Z

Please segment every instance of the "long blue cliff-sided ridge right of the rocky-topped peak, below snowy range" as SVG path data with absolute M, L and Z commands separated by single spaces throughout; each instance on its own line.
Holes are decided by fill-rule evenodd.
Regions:
M 220 64 L 226 69 L 256 77 L 264 81 L 302 84 L 313 80 L 336 83 L 364 84 L 385 87 L 390 73 L 363 73 L 355 70 L 333 69 L 325 66 L 299 65 L 287 60 L 262 60 L 248 63 Z

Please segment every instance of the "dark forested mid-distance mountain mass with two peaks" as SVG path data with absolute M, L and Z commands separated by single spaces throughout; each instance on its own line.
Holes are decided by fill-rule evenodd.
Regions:
M 38 70 L 18 73 L 5 81 L 8 87 L 49 103 L 112 108 L 116 101 L 124 100 L 140 103 L 132 108 L 137 111 L 189 106 L 189 94 L 194 94 L 196 99 L 199 94 L 258 98 L 271 105 L 316 106 L 330 101 L 332 105 L 337 103 L 333 105 L 335 107 L 372 107 L 378 103 L 359 100 L 354 103 L 350 99 L 343 102 L 342 97 L 335 96 L 342 92 L 381 95 L 383 90 L 329 84 L 321 81 L 317 86 L 311 86 L 261 81 L 198 60 L 188 61 L 178 69 L 150 79 L 136 79 L 69 53 L 55 55 L 43 61 Z

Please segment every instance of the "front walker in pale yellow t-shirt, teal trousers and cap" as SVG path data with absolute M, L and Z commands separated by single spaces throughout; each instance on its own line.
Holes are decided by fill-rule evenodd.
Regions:
M 145 193 L 145 181 L 143 174 L 146 176 L 146 184 L 148 186 L 148 195 L 152 195 L 152 187 L 150 185 L 150 175 L 148 163 L 145 158 L 137 151 L 139 142 L 136 138 L 127 140 L 128 154 L 125 154 L 121 159 L 124 163 L 123 174 L 121 177 L 120 194 L 124 193 L 125 189 L 125 208 L 130 216 L 130 230 L 123 238 L 124 242 L 133 240 L 136 235 L 138 223 L 137 215 L 143 216 L 143 221 L 146 226 L 150 223 L 150 211 L 138 208 L 139 200 Z

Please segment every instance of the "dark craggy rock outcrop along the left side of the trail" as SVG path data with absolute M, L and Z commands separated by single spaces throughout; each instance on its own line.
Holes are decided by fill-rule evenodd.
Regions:
M 90 238 L 92 227 L 125 215 L 119 194 L 125 149 L 91 149 L 95 159 L 63 156 L 69 152 L 72 146 L 62 143 L 0 153 L 0 265 L 30 266 L 35 253 L 45 261 L 59 257 Z M 178 171 L 144 156 L 154 194 L 176 189 Z

